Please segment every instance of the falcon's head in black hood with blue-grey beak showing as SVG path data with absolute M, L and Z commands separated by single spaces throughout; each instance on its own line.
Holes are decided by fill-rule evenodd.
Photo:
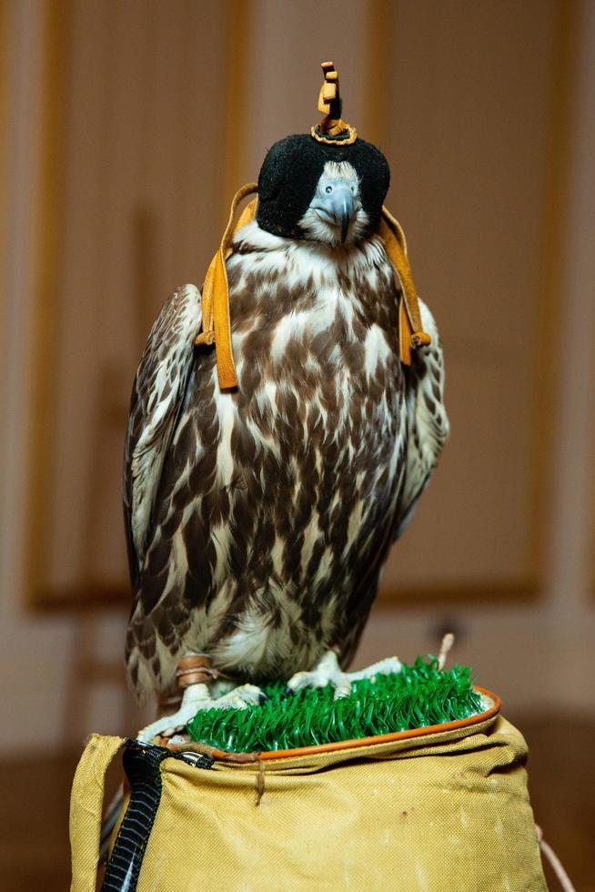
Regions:
M 386 157 L 363 139 L 342 146 L 286 137 L 260 168 L 257 223 L 285 238 L 352 244 L 377 228 L 389 182 Z

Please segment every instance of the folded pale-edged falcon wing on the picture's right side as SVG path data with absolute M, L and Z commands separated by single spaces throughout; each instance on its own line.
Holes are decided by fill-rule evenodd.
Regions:
M 408 441 L 405 481 L 393 542 L 407 529 L 419 496 L 428 485 L 449 436 L 449 419 L 444 407 L 444 360 L 438 328 L 421 300 L 419 309 L 423 329 L 432 340 L 429 347 L 413 351 L 412 364 L 405 369 Z

